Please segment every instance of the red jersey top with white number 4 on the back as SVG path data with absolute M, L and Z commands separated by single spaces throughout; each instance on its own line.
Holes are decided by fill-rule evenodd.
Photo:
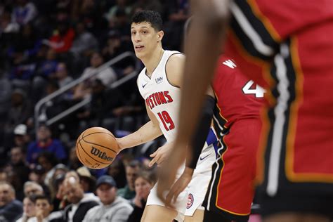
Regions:
M 234 60 L 220 56 L 212 86 L 217 99 L 214 118 L 225 128 L 217 126 L 217 131 L 223 132 L 236 120 L 259 118 L 264 90 L 244 76 Z

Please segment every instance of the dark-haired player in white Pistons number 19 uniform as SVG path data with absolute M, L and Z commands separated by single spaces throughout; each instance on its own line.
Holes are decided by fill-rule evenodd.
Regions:
M 145 68 L 138 75 L 138 89 L 145 100 L 150 122 L 143 125 L 138 131 L 123 138 L 117 138 L 121 150 L 131 148 L 161 136 L 165 136 L 167 143 L 160 147 L 151 157 L 150 164 L 162 164 L 169 155 L 178 127 L 178 112 L 180 105 L 181 79 L 185 56 L 178 51 L 164 51 L 162 48 L 162 19 L 155 11 L 139 11 L 133 15 L 131 23 L 131 40 L 136 56 L 143 62 Z M 211 92 L 212 93 L 212 92 Z M 214 103 L 214 101 L 212 102 Z M 205 115 L 202 127 L 211 124 L 211 115 Z M 183 168 L 178 171 L 178 177 L 192 178 L 187 189 L 178 195 L 174 204 L 175 209 L 165 207 L 156 195 L 156 185 L 148 196 L 147 205 L 141 221 L 171 222 L 202 221 L 204 208 L 201 206 L 211 177 L 211 164 L 215 160 L 214 145 L 216 141 L 214 131 L 199 132 L 191 143 L 192 146 L 200 145 L 197 155 L 187 159 Z M 209 138 L 209 139 L 207 139 Z M 211 144 L 211 145 L 210 145 Z M 203 148 L 202 148 L 203 147 Z M 172 154 L 171 154 L 172 155 Z M 189 176 L 190 175 L 190 176 Z M 157 182 L 158 183 L 158 182 Z

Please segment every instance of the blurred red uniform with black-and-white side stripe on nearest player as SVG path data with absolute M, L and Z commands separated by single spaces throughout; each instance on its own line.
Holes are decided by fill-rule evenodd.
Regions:
M 266 166 L 293 183 L 332 184 L 333 1 L 234 0 L 230 12 L 226 54 L 270 90 L 261 152 L 283 161 L 266 158 Z M 270 195 L 279 174 L 259 173 L 260 181 L 271 178 Z

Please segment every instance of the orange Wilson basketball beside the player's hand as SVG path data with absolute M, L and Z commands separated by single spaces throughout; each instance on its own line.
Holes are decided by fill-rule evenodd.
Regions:
M 116 138 L 110 131 L 102 127 L 91 127 L 77 138 L 76 152 L 84 166 L 103 169 L 112 164 L 119 149 Z

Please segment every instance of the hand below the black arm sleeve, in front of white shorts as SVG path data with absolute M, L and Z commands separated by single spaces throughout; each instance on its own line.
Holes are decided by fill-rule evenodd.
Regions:
M 185 190 L 185 188 L 188 186 L 188 183 L 190 183 L 192 179 L 194 169 L 191 169 L 189 167 L 185 167 L 183 174 L 178 178 L 176 183 L 172 185 L 168 195 L 166 195 L 165 204 L 166 206 L 172 206 L 177 200 L 178 195 Z M 172 200 L 174 200 L 172 202 Z

